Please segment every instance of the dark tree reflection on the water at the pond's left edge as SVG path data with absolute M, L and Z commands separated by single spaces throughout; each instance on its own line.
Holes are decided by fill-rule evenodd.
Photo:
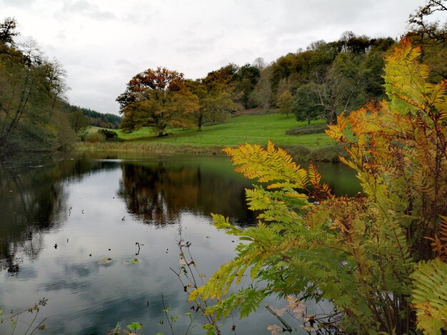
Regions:
M 0 269 L 20 271 L 24 257 L 34 261 L 43 232 L 56 230 L 69 215 L 65 184 L 107 168 L 86 157 L 31 156 L 0 163 Z M 21 254 L 21 257 L 18 256 Z

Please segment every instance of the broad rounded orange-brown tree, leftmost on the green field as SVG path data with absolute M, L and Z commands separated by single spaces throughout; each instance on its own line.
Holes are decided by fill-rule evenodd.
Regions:
M 183 73 L 167 68 L 138 73 L 116 101 L 124 114 L 122 130 L 151 127 L 157 136 L 166 135 L 168 126 L 191 126 L 189 116 L 199 108 L 199 98 L 186 88 Z

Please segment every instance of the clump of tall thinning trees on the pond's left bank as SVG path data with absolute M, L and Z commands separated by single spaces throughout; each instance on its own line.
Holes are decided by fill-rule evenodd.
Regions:
M 11 41 L 0 43 L 1 149 L 54 150 L 74 140 L 59 105 L 67 89 L 65 76 L 31 38 L 20 48 Z

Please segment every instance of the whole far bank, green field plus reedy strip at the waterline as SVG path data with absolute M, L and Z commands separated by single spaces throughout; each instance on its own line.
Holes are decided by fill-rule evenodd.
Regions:
M 313 125 L 324 125 L 324 120 Z M 134 133 L 116 132 L 124 142 L 77 143 L 75 150 L 129 151 L 136 153 L 189 153 L 221 155 L 222 149 L 243 143 L 266 145 L 268 140 L 288 150 L 300 160 L 335 161 L 343 150 L 335 145 L 325 133 L 286 135 L 286 131 L 306 128 L 307 122 L 297 122 L 293 116 L 277 113 L 263 115 L 238 115 L 226 123 L 208 125 L 201 132 L 194 129 L 174 128 L 167 130 L 169 136 L 157 138 L 149 128 Z

